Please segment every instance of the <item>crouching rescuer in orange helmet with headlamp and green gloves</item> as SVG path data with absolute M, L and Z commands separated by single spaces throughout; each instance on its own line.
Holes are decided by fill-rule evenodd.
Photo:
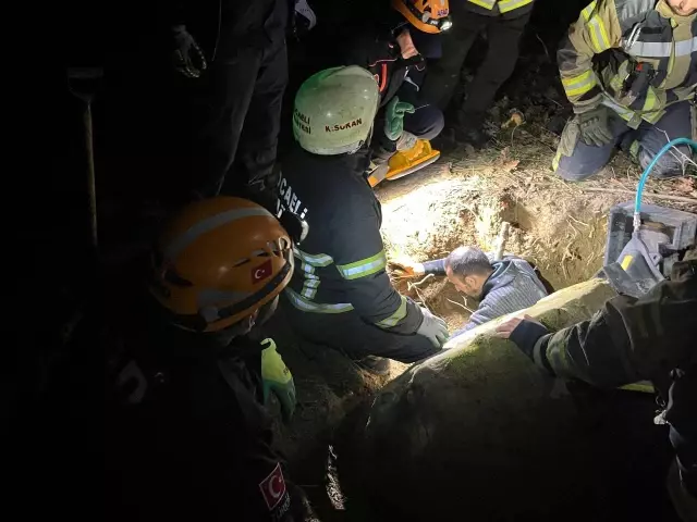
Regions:
M 346 64 L 367 69 L 380 87 L 374 160 L 389 172 L 376 173 L 376 182 L 435 162 L 440 153 L 430 140 L 443 129 L 443 113 L 424 97 L 421 84 L 426 58 L 440 52 L 439 35 L 451 26 L 448 0 L 391 0 L 391 7 L 378 11 L 345 52 Z

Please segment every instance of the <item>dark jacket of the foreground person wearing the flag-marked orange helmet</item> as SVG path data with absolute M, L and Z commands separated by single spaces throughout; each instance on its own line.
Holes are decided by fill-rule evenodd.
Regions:
M 109 380 L 108 520 L 303 520 L 260 403 L 259 345 L 156 334 Z

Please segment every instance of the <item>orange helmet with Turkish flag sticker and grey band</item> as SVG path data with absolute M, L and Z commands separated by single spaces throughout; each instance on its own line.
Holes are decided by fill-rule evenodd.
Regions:
M 242 198 L 197 201 L 159 237 L 150 293 L 172 322 L 218 332 L 278 296 L 293 274 L 293 244 L 279 221 Z

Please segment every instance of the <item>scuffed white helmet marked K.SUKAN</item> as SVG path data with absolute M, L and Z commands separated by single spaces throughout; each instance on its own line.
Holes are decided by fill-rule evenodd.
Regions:
M 357 65 L 307 78 L 295 95 L 293 136 L 308 152 L 353 153 L 370 137 L 380 103 L 375 77 Z

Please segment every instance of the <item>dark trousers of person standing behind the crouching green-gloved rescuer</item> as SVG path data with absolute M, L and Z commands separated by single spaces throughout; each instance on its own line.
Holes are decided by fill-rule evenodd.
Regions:
M 515 18 L 486 16 L 468 11 L 466 2 L 453 2 L 453 26 L 443 35 L 443 57 L 429 64 L 424 92 L 444 110 L 451 102 L 461 70 L 477 35 L 486 30 L 489 50 L 467 89 L 467 99 L 457 107 L 460 125 L 478 125 L 518 59 L 518 44 L 530 17 L 527 11 Z

